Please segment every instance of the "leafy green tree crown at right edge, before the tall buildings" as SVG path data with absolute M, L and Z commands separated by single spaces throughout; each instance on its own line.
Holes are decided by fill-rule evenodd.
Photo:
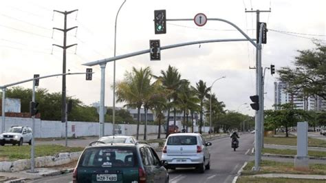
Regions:
M 298 50 L 295 67 L 282 67 L 279 79 L 289 83 L 285 89 L 290 94 L 320 96 L 326 100 L 326 46 L 316 44 L 315 50 Z

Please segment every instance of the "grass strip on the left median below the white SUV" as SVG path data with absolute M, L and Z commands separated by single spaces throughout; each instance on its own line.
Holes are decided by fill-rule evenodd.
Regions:
M 14 161 L 30 158 L 31 146 L 3 146 L 0 149 L 0 161 Z M 35 157 L 55 155 L 56 153 L 83 151 L 81 147 L 64 147 L 61 145 L 36 145 Z

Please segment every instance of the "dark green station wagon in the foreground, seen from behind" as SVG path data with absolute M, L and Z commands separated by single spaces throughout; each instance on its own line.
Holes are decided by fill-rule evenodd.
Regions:
M 73 182 L 169 182 L 169 173 L 148 144 L 89 144 L 80 155 Z

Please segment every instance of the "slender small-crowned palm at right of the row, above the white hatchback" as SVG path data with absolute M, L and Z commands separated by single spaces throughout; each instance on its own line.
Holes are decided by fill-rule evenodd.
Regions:
M 206 87 L 203 80 L 196 83 L 197 96 L 200 100 L 200 118 L 199 118 L 199 133 L 202 133 L 204 100 L 209 97 L 210 87 Z

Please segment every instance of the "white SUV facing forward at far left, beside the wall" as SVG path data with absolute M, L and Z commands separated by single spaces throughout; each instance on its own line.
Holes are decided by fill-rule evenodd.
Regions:
M 12 126 L 5 133 L 0 134 L 0 144 L 18 144 L 19 146 L 23 143 L 32 144 L 32 129 L 30 127 L 19 127 Z

